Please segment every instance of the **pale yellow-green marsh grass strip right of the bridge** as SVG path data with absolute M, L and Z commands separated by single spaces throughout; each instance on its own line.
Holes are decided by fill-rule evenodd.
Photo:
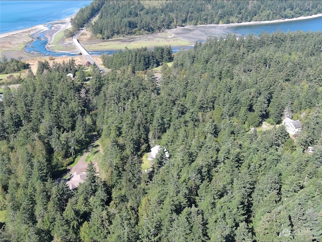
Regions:
M 154 39 L 142 39 L 138 41 L 124 41 L 124 39 L 113 39 L 96 44 L 86 44 L 85 48 L 88 50 L 106 50 L 106 49 L 129 49 L 141 48 L 141 47 L 154 47 L 158 45 L 172 45 L 172 46 L 187 46 L 191 45 L 189 41 L 182 40 L 180 38 L 154 38 Z

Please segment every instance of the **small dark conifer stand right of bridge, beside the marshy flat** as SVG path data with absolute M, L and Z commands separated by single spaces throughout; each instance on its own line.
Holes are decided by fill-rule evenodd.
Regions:
M 102 54 L 103 65 L 107 68 L 121 69 L 130 66 L 131 70 L 144 71 L 173 61 L 171 46 L 155 46 L 152 50 L 140 49 L 119 50 L 112 55 Z

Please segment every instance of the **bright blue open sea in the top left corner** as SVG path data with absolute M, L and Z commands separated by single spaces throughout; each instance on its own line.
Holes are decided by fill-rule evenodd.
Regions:
M 67 18 L 92 1 L 0 1 L 0 33 Z

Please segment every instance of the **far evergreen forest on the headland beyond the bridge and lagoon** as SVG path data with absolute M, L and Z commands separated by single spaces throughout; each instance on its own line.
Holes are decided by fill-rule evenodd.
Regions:
M 90 24 L 94 36 L 140 35 L 177 26 L 228 24 L 308 16 L 322 12 L 322 1 L 100 1 L 85 7 L 72 21 Z

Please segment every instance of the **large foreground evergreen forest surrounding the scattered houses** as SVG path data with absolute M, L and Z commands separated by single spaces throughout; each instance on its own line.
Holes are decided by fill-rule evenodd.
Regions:
M 322 33 L 209 39 L 156 84 L 40 62 L 0 102 L 1 241 L 321 241 Z M 300 119 L 294 140 L 263 120 Z M 250 128 L 257 127 L 253 132 Z M 259 127 L 259 128 L 258 128 Z M 73 193 L 55 181 L 100 135 Z M 142 156 L 166 147 L 142 171 Z M 314 146 L 312 154 L 303 153 Z

